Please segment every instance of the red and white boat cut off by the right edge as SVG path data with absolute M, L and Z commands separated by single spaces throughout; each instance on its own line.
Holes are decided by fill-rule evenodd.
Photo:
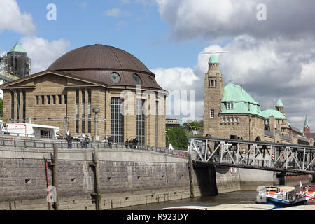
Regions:
M 302 186 L 296 193 L 295 205 L 315 204 L 315 186 Z

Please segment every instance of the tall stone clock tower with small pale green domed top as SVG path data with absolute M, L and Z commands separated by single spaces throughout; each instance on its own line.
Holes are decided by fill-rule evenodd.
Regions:
M 221 99 L 223 97 L 223 76 L 216 55 L 209 59 L 209 70 L 204 76 L 204 134 L 214 134 L 219 129 Z

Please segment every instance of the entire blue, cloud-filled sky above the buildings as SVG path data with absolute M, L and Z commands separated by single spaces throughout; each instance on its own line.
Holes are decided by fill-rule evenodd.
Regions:
M 194 91 L 198 120 L 210 57 L 200 52 L 225 50 L 219 55 L 225 85 L 244 87 L 262 111 L 281 97 L 291 125 L 302 130 L 307 114 L 315 128 L 314 0 L 0 0 L 0 6 L 0 52 L 19 41 L 31 73 L 69 50 L 112 45 L 139 58 L 165 90 Z

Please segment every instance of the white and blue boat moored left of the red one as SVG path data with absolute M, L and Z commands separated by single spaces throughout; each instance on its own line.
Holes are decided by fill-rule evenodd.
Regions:
M 295 187 L 265 186 L 258 195 L 258 204 L 272 204 L 277 207 L 290 207 L 295 202 Z

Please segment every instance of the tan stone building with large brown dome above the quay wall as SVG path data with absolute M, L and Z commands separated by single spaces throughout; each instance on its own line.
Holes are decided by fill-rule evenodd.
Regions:
M 137 138 L 142 145 L 165 146 L 167 91 L 154 73 L 124 50 L 100 44 L 78 48 L 48 70 L 1 89 L 3 117 L 13 122 L 31 118 L 59 126 L 64 135 L 69 131 L 100 140 L 111 137 L 118 143 Z

